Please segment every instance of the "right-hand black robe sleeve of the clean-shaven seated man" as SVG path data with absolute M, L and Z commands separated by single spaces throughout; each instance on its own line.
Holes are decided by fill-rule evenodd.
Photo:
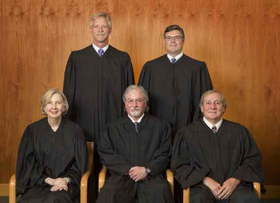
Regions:
M 259 182 L 262 193 L 265 193 L 262 155 L 248 129 L 244 126 L 242 128 L 243 156 L 232 177 L 246 182 Z

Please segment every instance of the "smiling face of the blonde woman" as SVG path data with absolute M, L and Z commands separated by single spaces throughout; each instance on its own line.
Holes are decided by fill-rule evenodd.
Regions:
M 63 99 L 60 94 L 54 93 L 49 102 L 44 106 L 44 110 L 48 115 L 48 118 L 60 118 L 65 106 L 63 104 Z

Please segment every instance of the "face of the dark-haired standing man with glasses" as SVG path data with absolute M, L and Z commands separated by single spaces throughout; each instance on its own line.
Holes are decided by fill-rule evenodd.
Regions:
M 179 37 L 179 39 L 176 39 L 175 37 L 177 38 Z M 169 53 L 171 56 L 175 57 L 179 53 L 181 53 L 184 45 L 184 41 L 182 37 L 183 36 L 179 30 L 172 30 L 170 32 L 165 33 L 164 36 L 165 49 L 167 53 Z

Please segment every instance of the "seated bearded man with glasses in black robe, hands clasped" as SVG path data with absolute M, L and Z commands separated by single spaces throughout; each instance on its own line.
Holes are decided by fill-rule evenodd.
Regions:
M 109 176 L 97 202 L 174 202 L 164 177 L 171 159 L 170 126 L 151 116 L 148 95 L 130 85 L 123 94 L 128 115 L 108 124 L 98 153 Z

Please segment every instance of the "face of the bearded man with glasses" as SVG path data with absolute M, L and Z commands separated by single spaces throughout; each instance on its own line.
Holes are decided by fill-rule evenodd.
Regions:
M 146 109 L 146 100 L 141 90 L 132 89 L 126 94 L 125 109 L 135 121 L 143 115 Z

